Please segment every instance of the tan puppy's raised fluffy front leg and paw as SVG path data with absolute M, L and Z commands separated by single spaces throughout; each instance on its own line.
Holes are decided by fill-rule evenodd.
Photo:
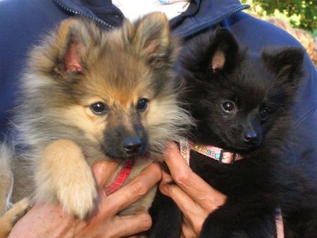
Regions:
M 85 218 L 97 196 L 92 170 L 77 144 L 59 139 L 44 150 L 36 174 L 36 194 L 44 201 L 60 201 L 70 214 Z M 56 194 L 56 198 L 51 196 Z

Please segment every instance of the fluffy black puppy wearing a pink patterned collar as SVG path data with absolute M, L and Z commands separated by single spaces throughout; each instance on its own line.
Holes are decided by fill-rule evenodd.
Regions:
M 287 158 L 285 146 L 303 57 L 294 47 L 254 56 L 225 29 L 195 39 L 182 57 L 182 97 L 197 127 L 180 147 L 185 156 L 189 147 L 194 172 L 228 197 L 201 237 L 275 237 L 280 210 L 285 237 L 317 234 L 316 184 Z M 173 201 L 156 194 L 151 215 L 150 237 L 180 237 Z

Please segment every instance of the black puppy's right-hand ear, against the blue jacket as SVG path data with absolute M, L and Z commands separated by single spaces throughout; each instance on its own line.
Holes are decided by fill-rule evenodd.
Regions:
M 281 84 L 297 86 L 302 76 L 304 50 L 285 47 L 280 50 L 266 49 L 262 53 L 266 68 L 277 75 Z

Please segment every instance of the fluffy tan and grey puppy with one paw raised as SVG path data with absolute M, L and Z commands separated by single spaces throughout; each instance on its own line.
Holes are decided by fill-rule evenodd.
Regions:
M 13 144 L 27 150 L 12 161 L 12 200 L 60 202 L 85 218 L 96 196 L 91 166 L 101 159 L 127 159 L 125 137 L 147 139 L 146 158 L 135 156 L 127 182 L 160 160 L 166 146 L 192 125 L 178 101 L 173 73 L 178 51 L 161 13 L 111 32 L 89 21 L 61 23 L 31 51 L 21 82 Z M 140 99 L 148 101 L 143 111 L 137 108 Z M 95 103 L 106 105 L 106 113 L 93 113 Z M 155 191 L 123 213 L 147 210 Z

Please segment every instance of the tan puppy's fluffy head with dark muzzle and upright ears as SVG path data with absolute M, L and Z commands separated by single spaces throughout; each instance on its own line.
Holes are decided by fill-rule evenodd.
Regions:
M 159 156 L 191 123 L 175 92 L 177 53 L 161 13 L 110 32 L 84 20 L 63 21 L 32 51 L 25 88 L 46 127 L 55 125 L 37 129 L 111 158 Z

